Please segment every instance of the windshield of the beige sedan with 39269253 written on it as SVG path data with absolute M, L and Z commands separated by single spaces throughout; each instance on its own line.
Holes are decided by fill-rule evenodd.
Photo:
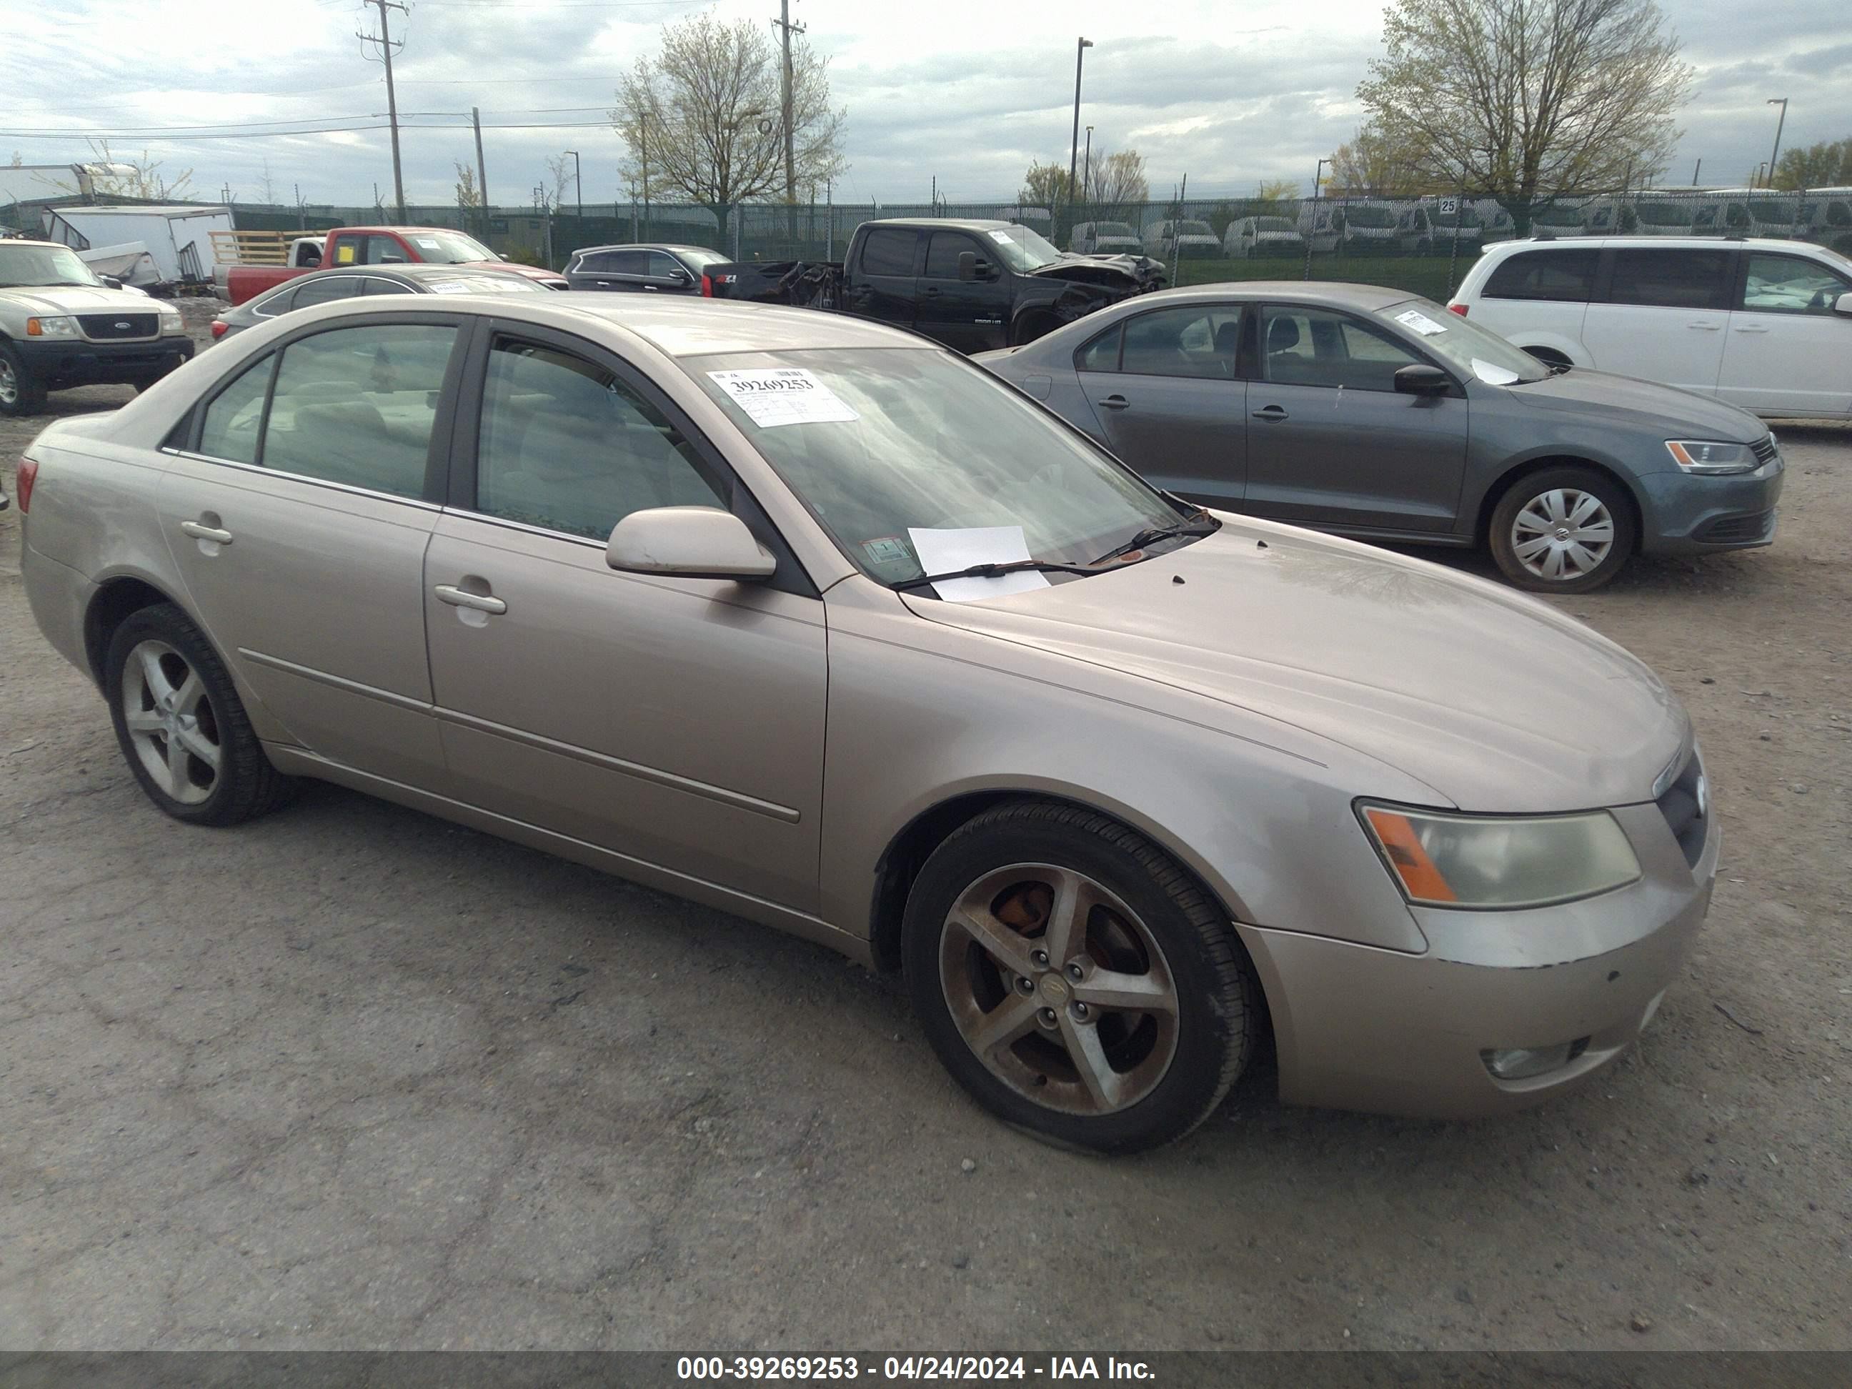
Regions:
M 926 572 L 917 550 L 922 530 L 1004 528 L 1019 559 L 1026 546 L 1033 559 L 1089 563 L 1143 530 L 1185 519 L 1026 398 L 946 352 L 752 352 L 683 357 L 682 367 L 882 583 Z M 1007 559 L 1009 546 L 996 557 Z

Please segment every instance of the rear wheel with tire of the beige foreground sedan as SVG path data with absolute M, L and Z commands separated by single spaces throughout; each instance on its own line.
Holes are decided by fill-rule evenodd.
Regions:
M 148 800 L 187 824 L 239 824 L 294 782 L 263 752 L 230 672 L 172 604 L 130 613 L 104 656 L 117 743 Z

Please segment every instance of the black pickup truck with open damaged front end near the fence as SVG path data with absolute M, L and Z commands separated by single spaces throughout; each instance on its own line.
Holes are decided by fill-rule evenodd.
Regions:
M 837 309 L 959 352 L 1033 343 L 1130 294 L 1163 289 L 1145 256 L 1072 256 L 1015 222 L 863 222 L 843 261 L 711 265 L 715 298 Z

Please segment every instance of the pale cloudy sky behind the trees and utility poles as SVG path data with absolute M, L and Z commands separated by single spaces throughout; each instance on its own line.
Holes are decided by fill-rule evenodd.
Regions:
M 1661 0 L 1696 94 L 1667 183 L 1739 183 L 1782 146 L 1852 135 L 1846 0 Z M 587 204 L 620 194 L 622 144 L 602 122 L 615 78 L 652 52 L 689 0 L 413 0 L 391 13 L 407 202 L 450 202 L 472 159 L 480 106 L 494 202 L 528 202 L 544 159 L 580 150 Z M 765 22 L 776 0 L 719 0 Z M 1382 0 L 795 0 L 848 107 L 852 169 L 839 202 L 1015 196 L 1032 159 L 1067 159 L 1074 39 L 1087 52 L 1082 122 L 1095 146 L 1135 146 L 1152 191 L 1309 191 L 1319 156 L 1361 119 L 1356 85 L 1380 50 Z M 146 148 L 193 187 L 257 200 L 269 161 L 280 202 L 391 198 L 378 63 L 354 37 L 359 0 L 0 0 L 0 163 L 87 157 L 83 131 Z M 461 115 L 457 115 L 461 113 Z M 457 128 L 461 122 L 461 128 Z M 335 133 L 287 133 L 343 126 Z M 156 128 L 167 128 L 159 133 Z M 239 139 L 220 137 L 228 130 Z M 46 131 L 46 133 L 33 133 Z M 189 139 L 181 139 L 181 137 Z M 261 135 L 261 137 L 259 137 Z

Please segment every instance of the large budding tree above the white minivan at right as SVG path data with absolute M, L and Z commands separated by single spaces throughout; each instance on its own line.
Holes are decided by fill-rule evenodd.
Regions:
M 1393 0 L 1358 98 L 1424 180 L 1528 220 L 1539 194 L 1659 172 L 1689 91 L 1654 0 Z

